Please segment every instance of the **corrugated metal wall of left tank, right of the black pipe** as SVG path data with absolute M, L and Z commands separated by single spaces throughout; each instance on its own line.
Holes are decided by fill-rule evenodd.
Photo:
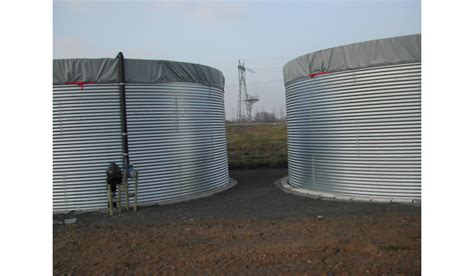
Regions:
M 201 84 L 127 84 L 139 204 L 180 201 L 229 183 L 224 92 Z

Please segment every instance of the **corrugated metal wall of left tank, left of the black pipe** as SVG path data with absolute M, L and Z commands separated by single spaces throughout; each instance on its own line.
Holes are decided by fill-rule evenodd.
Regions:
M 117 85 L 53 86 L 53 211 L 107 208 L 105 169 L 122 162 Z

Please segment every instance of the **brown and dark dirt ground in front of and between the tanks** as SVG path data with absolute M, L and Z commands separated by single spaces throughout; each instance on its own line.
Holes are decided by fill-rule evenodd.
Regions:
M 284 169 L 232 171 L 209 198 L 54 226 L 55 274 L 421 273 L 421 209 L 317 200 L 274 185 Z M 322 218 L 321 218 L 322 216 Z

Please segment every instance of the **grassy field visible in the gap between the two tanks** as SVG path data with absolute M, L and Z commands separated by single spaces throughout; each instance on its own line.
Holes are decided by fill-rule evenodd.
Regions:
M 285 123 L 227 124 L 230 169 L 285 168 Z

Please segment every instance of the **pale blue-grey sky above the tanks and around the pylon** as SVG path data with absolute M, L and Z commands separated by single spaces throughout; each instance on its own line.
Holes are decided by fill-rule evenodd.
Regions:
M 237 114 L 238 60 L 256 111 L 285 114 L 282 67 L 318 50 L 421 33 L 419 0 L 53 1 L 53 58 L 115 57 L 199 63 L 226 79 Z M 242 110 L 244 113 L 244 110 Z

